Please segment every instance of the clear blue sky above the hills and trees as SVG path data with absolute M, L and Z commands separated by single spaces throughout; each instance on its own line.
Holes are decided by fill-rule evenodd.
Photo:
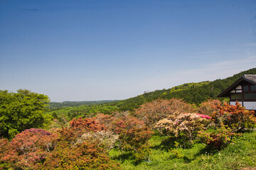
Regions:
M 0 0 L 0 90 L 124 99 L 256 67 L 256 1 Z

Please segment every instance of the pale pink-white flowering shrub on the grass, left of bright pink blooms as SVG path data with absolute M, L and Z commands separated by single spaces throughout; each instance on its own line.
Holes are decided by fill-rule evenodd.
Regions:
M 164 128 L 167 134 L 183 137 L 183 140 L 191 142 L 196 137 L 197 132 L 205 129 L 208 124 L 206 118 L 201 118 L 196 113 L 176 113 L 175 115 L 169 115 L 169 118 L 160 120 L 155 128 L 158 130 Z

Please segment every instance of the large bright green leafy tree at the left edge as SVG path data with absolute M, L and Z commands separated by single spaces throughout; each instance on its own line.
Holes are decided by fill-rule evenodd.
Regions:
M 41 128 L 48 96 L 26 89 L 0 91 L 0 136 L 12 138 L 29 128 Z

